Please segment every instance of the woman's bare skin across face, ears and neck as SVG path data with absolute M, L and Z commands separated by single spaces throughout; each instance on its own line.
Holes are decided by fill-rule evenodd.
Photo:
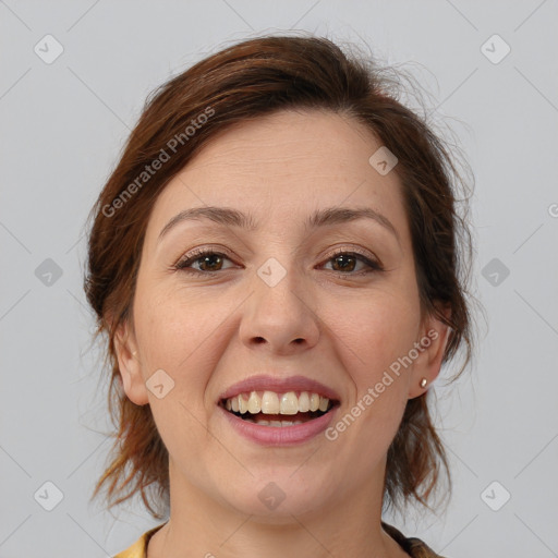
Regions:
M 448 330 L 421 323 L 399 179 L 368 163 L 380 145 L 350 117 L 282 111 L 216 137 L 157 198 L 133 317 L 117 338 L 124 390 L 151 407 L 170 456 L 170 520 L 149 558 L 408 556 L 380 526 L 386 456 L 408 399 L 425 391 L 421 378 L 429 386 L 439 373 Z M 206 205 L 250 213 L 258 229 L 201 219 L 159 241 L 177 214 Z M 367 219 L 304 229 L 332 206 L 375 208 L 399 240 Z M 198 246 L 225 254 L 213 277 L 203 259 L 191 266 L 197 276 L 172 268 Z M 336 248 L 364 251 L 385 270 L 362 275 L 369 268 L 350 256 L 343 268 Z M 270 257 L 287 271 L 275 287 L 256 272 Z M 339 420 L 428 330 L 437 339 L 333 441 L 263 447 L 216 407 L 228 386 L 276 371 L 333 388 Z M 174 381 L 162 399 L 145 384 L 157 369 Z M 269 482 L 286 494 L 275 510 L 258 498 Z

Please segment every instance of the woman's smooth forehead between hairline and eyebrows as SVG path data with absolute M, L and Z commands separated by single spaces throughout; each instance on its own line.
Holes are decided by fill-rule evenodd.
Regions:
M 369 206 L 408 233 L 396 172 L 368 159 L 381 146 L 356 120 L 326 111 L 281 111 L 219 133 L 159 195 L 149 228 L 191 207 L 227 206 L 284 227 L 320 207 Z M 148 232 L 149 233 L 149 232 Z

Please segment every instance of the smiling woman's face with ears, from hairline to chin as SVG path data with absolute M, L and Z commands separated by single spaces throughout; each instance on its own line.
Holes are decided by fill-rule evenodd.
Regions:
M 174 483 L 279 521 L 381 494 L 388 447 L 421 378 L 439 372 L 445 330 L 421 324 L 401 186 L 368 161 L 380 146 L 349 118 L 277 112 L 222 133 L 159 195 L 118 347 L 124 389 L 151 407 L 169 451 L 171 495 Z M 226 392 L 253 390 L 268 412 L 307 407 L 286 396 L 281 408 L 289 391 L 336 401 L 323 418 L 274 413 L 268 425 L 225 409 Z

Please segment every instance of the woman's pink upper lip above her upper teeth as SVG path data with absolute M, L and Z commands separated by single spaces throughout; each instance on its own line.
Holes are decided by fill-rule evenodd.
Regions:
M 339 396 L 333 389 L 315 379 L 304 376 L 281 378 L 271 375 L 251 376 L 238 381 L 219 396 L 219 401 L 250 391 L 275 391 L 277 393 L 284 393 L 287 391 L 308 391 L 327 397 L 330 400 L 339 401 Z

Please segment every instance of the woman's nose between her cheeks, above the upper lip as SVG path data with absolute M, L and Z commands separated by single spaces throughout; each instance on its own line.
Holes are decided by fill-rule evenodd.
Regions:
M 252 350 L 259 348 L 287 355 L 305 351 L 318 341 L 320 328 L 314 293 L 305 288 L 303 278 L 296 278 L 292 270 L 286 271 L 272 262 L 254 276 L 253 293 L 243 305 L 240 325 L 241 340 Z

